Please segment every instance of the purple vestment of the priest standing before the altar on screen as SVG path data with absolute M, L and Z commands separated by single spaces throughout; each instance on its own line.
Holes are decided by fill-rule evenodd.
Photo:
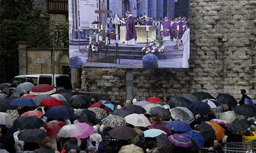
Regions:
M 129 16 L 126 21 L 126 39 L 125 40 L 131 40 L 134 39 L 137 40 L 136 30 L 135 30 L 135 21 L 134 17 Z

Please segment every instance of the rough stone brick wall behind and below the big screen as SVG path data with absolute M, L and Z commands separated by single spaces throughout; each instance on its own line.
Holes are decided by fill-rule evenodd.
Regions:
M 190 0 L 190 68 L 134 69 L 134 98 L 206 91 L 256 102 L 256 1 Z M 83 89 L 125 98 L 124 69 L 83 69 Z M 87 88 L 85 88 L 87 87 Z

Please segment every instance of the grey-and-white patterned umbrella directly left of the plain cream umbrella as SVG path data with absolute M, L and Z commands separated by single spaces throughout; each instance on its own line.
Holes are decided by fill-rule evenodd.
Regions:
M 126 125 L 126 120 L 125 118 L 117 115 L 112 115 L 110 114 L 106 118 L 101 120 L 102 123 L 106 126 L 109 127 L 116 127 L 116 126 L 125 126 Z

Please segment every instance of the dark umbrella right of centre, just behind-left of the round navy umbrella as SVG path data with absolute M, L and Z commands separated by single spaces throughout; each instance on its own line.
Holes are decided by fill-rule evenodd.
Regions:
M 178 96 L 176 98 L 170 99 L 167 102 L 167 104 L 170 105 L 170 108 L 176 108 L 177 106 L 188 108 L 189 104 L 191 104 L 191 103 L 192 103 L 191 101 L 189 101 L 188 99 L 186 99 L 182 96 Z

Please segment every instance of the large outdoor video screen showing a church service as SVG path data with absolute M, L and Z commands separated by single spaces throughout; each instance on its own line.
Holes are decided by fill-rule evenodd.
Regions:
M 69 0 L 70 68 L 189 68 L 189 0 Z

